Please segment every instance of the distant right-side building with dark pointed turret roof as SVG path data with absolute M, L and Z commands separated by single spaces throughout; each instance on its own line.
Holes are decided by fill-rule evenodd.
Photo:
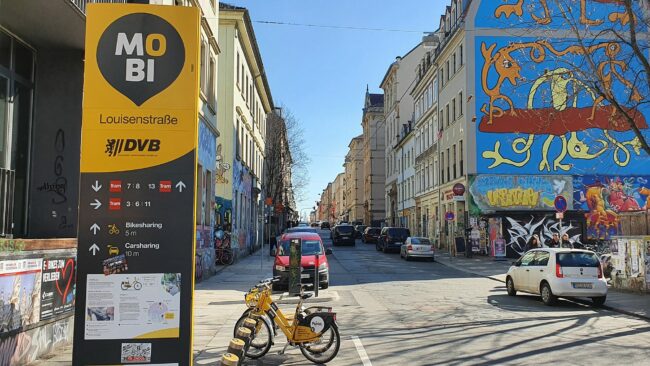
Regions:
M 384 128 L 384 95 L 371 94 L 366 89 L 363 107 L 363 171 L 364 171 L 364 219 L 370 226 L 381 226 L 385 222 L 386 154 Z

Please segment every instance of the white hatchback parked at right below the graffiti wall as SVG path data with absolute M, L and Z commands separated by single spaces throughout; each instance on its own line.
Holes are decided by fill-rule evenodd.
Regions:
M 596 306 L 607 298 L 607 281 L 596 253 L 568 248 L 533 249 L 506 275 L 508 295 L 539 294 L 546 305 L 558 297 L 590 297 Z

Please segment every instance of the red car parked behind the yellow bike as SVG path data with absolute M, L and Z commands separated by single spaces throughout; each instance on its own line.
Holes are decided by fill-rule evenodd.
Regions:
M 330 267 L 327 262 L 327 255 L 332 254 L 332 249 L 325 249 L 323 247 L 323 242 L 320 240 L 318 234 L 305 232 L 285 234 L 282 236 L 273 264 L 273 276 L 279 276 L 280 281 L 274 284 L 274 286 L 277 285 L 277 287 L 286 288 L 289 285 L 289 251 L 291 239 L 302 240 L 302 259 L 300 262 L 301 283 L 314 284 L 314 269 L 316 268 L 316 255 L 318 255 L 318 283 L 320 288 L 328 288 Z

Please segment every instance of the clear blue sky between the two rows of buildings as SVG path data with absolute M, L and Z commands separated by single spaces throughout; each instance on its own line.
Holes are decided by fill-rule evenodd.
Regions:
M 395 57 L 435 31 L 446 0 L 232 0 L 246 7 L 276 106 L 304 127 L 311 157 L 307 191 L 296 206 L 308 213 L 343 172 L 350 140 L 362 133 L 366 86 L 379 84 Z M 260 21 L 391 29 L 332 29 Z M 408 31 L 408 32 L 407 32 Z M 413 32 L 414 31 L 414 32 Z

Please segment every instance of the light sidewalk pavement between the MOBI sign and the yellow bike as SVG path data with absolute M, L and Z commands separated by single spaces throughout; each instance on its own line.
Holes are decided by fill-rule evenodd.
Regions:
M 261 254 L 262 255 L 261 255 Z M 230 266 L 217 266 L 217 274 L 194 286 L 193 350 L 195 365 L 218 364 L 232 339 L 233 327 L 246 308 L 245 292 L 260 280 L 272 277 L 273 257 L 268 251 L 257 251 Z M 277 304 L 294 304 L 296 298 L 274 294 Z M 305 302 L 336 301 L 332 289 L 320 290 L 318 298 Z M 286 305 L 291 307 L 292 305 Z M 282 307 L 282 306 L 281 306 Z M 288 351 L 289 353 L 289 351 Z M 56 350 L 30 366 L 63 366 L 72 364 L 72 345 Z

